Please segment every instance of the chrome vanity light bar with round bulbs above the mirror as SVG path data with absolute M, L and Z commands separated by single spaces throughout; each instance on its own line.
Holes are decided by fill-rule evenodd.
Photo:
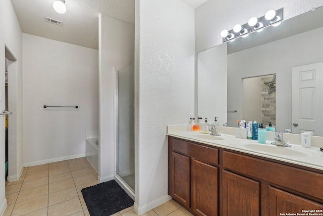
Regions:
M 256 19 L 252 17 L 249 19 L 248 23 L 243 25 L 235 25 L 231 30 L 223 30 L 221 32 L 222 42 L 228 40 L 233 40 L 237 37 L 246 37 L 249 32 L 261 31 L 262 28 L 270 25 L 277 26 L 283 20 L 283 8 L 277 11 L 270 10 L 263 17 Z

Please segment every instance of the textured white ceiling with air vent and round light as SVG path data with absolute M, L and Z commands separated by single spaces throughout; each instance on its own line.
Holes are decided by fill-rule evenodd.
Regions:
M 155 0 L 153 0 L 155 1 Z M 197 8 L 207 0 L 182 0 Z M 135 23 L 135 0 L 66 0 L 67 11 L 58 14 L 54 0 L 11 0 L 24 33 L 98 49 L 100 13 Z M 45 16 L 63 22 L 63 26 L 45 22 Z

